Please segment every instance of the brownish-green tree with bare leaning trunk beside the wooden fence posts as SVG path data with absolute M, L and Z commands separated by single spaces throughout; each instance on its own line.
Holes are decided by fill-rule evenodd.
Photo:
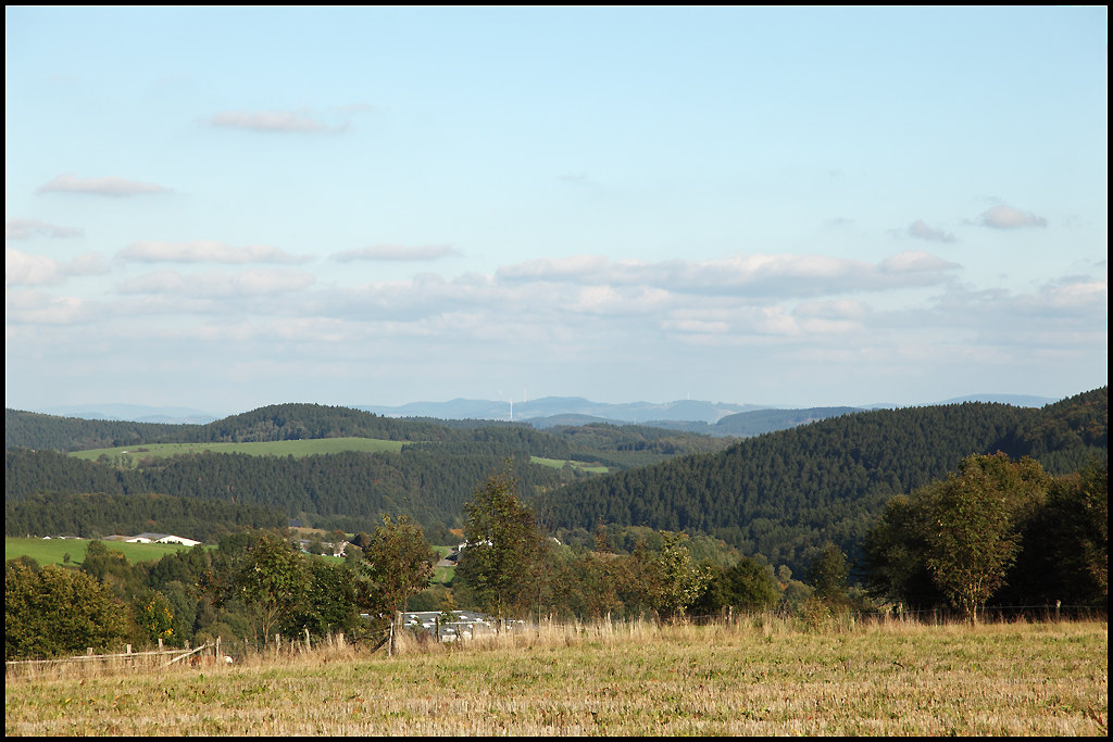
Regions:
M 371 583 L 373 610 L 405 611 L 406 602 L 433 581 L 436 555 L 425 541 L 425 533 L 405 515 L 396 523 L 383 516 L 363 550 L 359 572 Z

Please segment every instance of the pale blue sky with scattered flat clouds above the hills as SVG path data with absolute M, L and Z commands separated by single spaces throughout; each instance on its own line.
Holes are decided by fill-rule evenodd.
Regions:
M 1106 12 L 6 8 L 6 404 L 1105 385 Z

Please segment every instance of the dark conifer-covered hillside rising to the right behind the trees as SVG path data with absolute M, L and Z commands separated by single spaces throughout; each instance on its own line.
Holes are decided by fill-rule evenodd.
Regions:
M 945 477 L 971 453 L 1032 455 L 1055 474 L 1107 458 L 1107 387 L 1043 409 L 864 412 L 577 482 L 548 495 L 543 508 L 569 528 L 601 521 L 708 533 L 797 570 L 827 540 L 856 553 L 889 497 Z

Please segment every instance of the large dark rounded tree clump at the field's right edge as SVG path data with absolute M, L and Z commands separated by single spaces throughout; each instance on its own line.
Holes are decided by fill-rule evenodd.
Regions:
M 956 473 L 886 504 L 867 533 L 871 594 L 949 604 L 976 621 L 997 605 L 1107 605 L 1109 467 L 1054 477 L 1032 458 L 971 455 Z

